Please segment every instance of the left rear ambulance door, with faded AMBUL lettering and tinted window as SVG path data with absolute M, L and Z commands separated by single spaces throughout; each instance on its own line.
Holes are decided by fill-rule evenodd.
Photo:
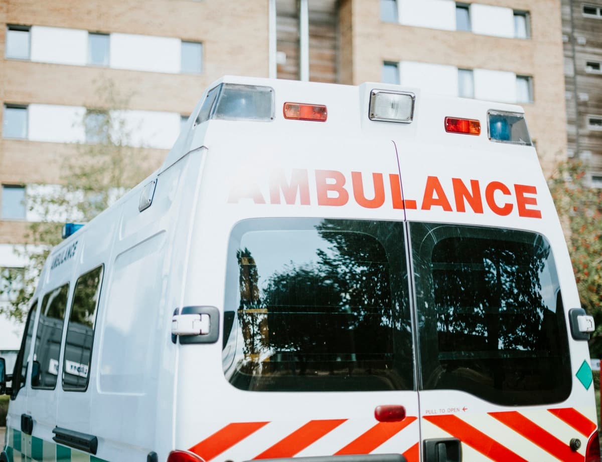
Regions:
M 179 345 L 176 448 L 418 462 L 394 145 L 285 123 L 294 142 L 256 125 L 207 145 L 185 300 L 223 312 L 223 337 Z

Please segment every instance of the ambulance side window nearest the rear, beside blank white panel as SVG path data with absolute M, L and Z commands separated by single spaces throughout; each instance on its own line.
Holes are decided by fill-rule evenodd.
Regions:
M 101 294 L 103 266 L 79 277 L 67 324 L 63 362 L 63 389 L 85 391 L 90 377 L 90 358 L 96 323 L 96 309 Z

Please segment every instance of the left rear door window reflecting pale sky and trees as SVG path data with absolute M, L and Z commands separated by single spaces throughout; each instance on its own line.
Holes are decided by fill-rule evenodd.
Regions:
M 403 223 L 247 220 L 232 232 L 223 366 L 243 390 L 414 387 Z

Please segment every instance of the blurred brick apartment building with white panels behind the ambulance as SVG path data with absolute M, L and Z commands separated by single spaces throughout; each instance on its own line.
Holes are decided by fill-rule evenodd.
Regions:
M 25 263 L 13 247 L 36 220 L 28 191 L 61 183 L 75 143 L 95 143 L 75 122 L 110 109 L 107 81 L 131 94 L 124 117 L 153 168 L 225 74 L 518 103 L 546 174 L 567 152 L 602 159 L 596 3 L 563 0 L 561 14 L 557 0 L 0 0 L 0 267 Z M 17 346 L 14 330 L 0 321 L 0 349 Z

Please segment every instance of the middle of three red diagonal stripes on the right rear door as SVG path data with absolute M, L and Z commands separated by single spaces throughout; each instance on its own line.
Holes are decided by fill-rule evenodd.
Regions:
M 571 451 L 569 445 L 557 439 L 553 434 L 536 425 L 517 411 L 489 412 L 490 416 L 512 428 L 527 440 L 538 445 L 544 451 L 564 462 L 583 462 L 583 455 Z

